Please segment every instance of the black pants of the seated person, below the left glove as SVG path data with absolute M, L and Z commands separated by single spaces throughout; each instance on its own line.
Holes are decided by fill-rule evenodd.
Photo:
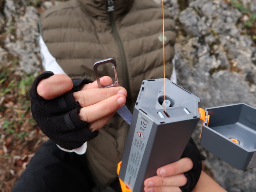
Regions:
M 118 180 L 111 185 L 120 191 Z M 12 192 L 91 192 L 106 191 L 94 184 L 81 156 L 60 150 L 52 141 L 45 142 L 31 159 Z M 108 191 L 108 190 L 107 190 Z

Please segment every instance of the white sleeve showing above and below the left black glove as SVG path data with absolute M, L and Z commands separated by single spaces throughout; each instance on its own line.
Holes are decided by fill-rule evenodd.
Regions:
M 50 54 L 42 36 L 39 37 L 39 45 L 44 70 L 52 71 L 54 74 L 66 74 L 64 70 L 60 67 L 60 65 L 56 62 L 56 59 L 52 56 L 52 54 Z M 58 148 L 66 152 L 76 152 L 77 154 L 81 155 L 86 152 L 87 143 L 85 142 L 81 147 L 73 150 L 64 149 L 60 146 L 58 146 Z

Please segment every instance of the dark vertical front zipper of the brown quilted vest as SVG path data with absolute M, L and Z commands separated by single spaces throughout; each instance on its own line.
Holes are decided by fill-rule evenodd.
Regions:
M 118 30 L 116 28 L 116 22 L 114 20 L 114 4 L 112 0 L 108 0 L 108 13 L 110 16 L 110 25 L 113 31 L 114 38 L 116 40 L 116 43 L 118 45 L 118 49 L 120 52 L 121 57 L 121 63 L 122 63 L 122 71 L 124 75 L 124 88 L 127 90 L 127 97 L 126 97 L 126 106 L 129 110 L 132 110 L 132 95 L 130 91 L 130 83 L 129 83 L 129 77 L 128 77 L 128 69 L 127 69 L 127 62 L 126 62 L 126 56 L 124 52 L 124 46 L 122 44 L 121 38 L 119 36 Z

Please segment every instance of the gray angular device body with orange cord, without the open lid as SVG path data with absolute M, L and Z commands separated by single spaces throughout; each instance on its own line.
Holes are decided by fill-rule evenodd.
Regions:
M 199 98 L 165 79 L 144 80 L 134 107 L 119 178 L 133 192 L 144 191 L 146 178 L 180 159 L 200 119 Z

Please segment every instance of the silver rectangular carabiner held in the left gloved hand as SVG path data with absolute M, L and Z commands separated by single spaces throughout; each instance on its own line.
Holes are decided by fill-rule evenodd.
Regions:
M 98 68 L 98 66 L 100 66 L 102 64 L 107 64 L 107 63 L 112 63 L 113 64 L 112 68 L 114 69 L 114 74 L 115 74 L 116 81 L 111 85 L 102 86 L 101 83 L 100 83 L 100 77 L 99 77 L 97 68 Z M 104 59 L 104 60 L 100 60 L 100 61 L 95 62 L 93 64 L 93 70 L 94 70 L 94 73 L 95 73 L 95 76 L 96 76 L 96 81 L 97 81 L 97 84 L 98 84 L 98 88 L 108 88 L 108 87 L 120 86 L 118 78 L 117 78 L 117 72 L 116 72 L 116 60 L 114 60 L 113 58 L 108 58 L 108 59 Z

